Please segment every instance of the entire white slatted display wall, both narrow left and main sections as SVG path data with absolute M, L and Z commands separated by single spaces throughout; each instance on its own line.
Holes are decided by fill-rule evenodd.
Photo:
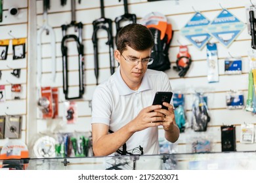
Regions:
M 8 1 L 9 2 L 9 1 Z M 11 1 L 10 1 L 11 2 Z M 27 25 L 29 24 L 27 14 L 28 14 L 28 3 L 25 0 L 19 1 L 22 12 L 24 11 L 24 19 L 16 20 L 14 18 L 4 17 L 3 22 L 0 23 L 1 39 L 12 39 L 8 34 L 12 30 L 12 35 L 14 37 L 28 37 Z M 249 58 L 248 51 L 251 49 L 251 36 L 247 32 L 247 27 L 236 37 L 234 42 L 230 46 L 226 47 L 221 44 L 217 39 L 212 38 L 210 42 L 215 42 L 217 44 L 218 59 L 219 59 L 219 82 L 208 83 L 207 82 L 207 56 L 206 48 L 202 50 L 196 48 L 192 45 L 186 38 L 181 35 L 181 29 L 186 25 L 186 23 L 195 14 L 195 11 L 201 12 L 207 19 L 213 20 L 223 8 L 226 8 L 234 16 L 236 16 L 240 21 L 246 24 L 246 12 L 245 6 L 247 6 L 250 1 L 239 1 L 239 0 L 224 0 L 224 1 L 209 1 L 205 3 L 202 0 L 176 0 L 176 1 L 155 1 L 148 2 L 146 0 L 130 0 L 129 12 L 136 14 L 138 21 L 143 18 L 146 14 L 150 12 L 161 12 L 167 17 L 169 23 L 172 24 L 174 34 L 171 46 L 169 48 L 169 59 L 171 61 L 171 67 L 176 65 L 177 54 L 179 53 L 180 45 L 187 45 L 188 50 L 191 54 L 192 64 L 190 69 L 184 78 L 180 78 L 177 71 L 173 68 L 165 71 L 169 76 L 171 86 L 174 91 L 182 90 L 185 96 L 185 108 L 187 122 L 190 123 L 192 118 L 192 103 L 193 95 L 195 89 L 204 88 L 205 96 L 207 96 L 207 103 L 209 107 L 209 112 L 211 116 L 211 121 L 208 124 L 207 131 L 205 132 L 194 132 L 191 129 L 185 129 L 184 133 L 181 133 L 179 140 L 175 143 L 177 144 L 177 149 L 179 153 L 191 152 L 191 142 L 189 139 L 191 137 L 206 136 L 210 137 L 213 142 L 213 152 L 221 152 L 221 125 L 235 125 L 236 126 L 236 150 L 237 151 L 247 151 L 255 150 L 256 144 L 244 144 L 240 142 L 240 125 L 241 124 L 255 124 L 255 116 L 251 112 L 246 112 L 245 109 L 228 110 L 226 108 L 226 92 L 230 90 L 240 90 L 244 93 L 244 99 L 247 99 L 247 89 L 248 89 L 248 73 L 249 73 Z M 255 2 L 252 2 L 256 4 Z M 48 10 L 48 24 L 54 29 L 56 36 L 56 80 L 53 82 L 51 80 L 51 37 L 42 34 L 42 79 L 41 86 L 52 86 L 58 88 L 58 105 L 59 105 L 59 118 L 56 120 L 41 120 L 39 116 L 37 117 L 37 133 L 41 131 L 46 131 L 51 129 L 55 131 L 56 126 L 62 125 L 60 131 L 90 131 L 91 130 L 91 108 L 89 107 L 93 92 L 96 87 L 96 78 L 94 73 L 94 51 L 93 51 L 93 24 L 92 22 L 100 18 L 100 1 L 86 1 L 81 0 L 79 4 L 76 1 L 76 22 L 81 22 L 83 24 L 83 45 L 84 45 L 84 59 L 85 59 L 85 93 L 82 99 L 76 100 L 77 103 L 77 122 L 75 124 L 63 124 L 62 116 L 64 114 L 64 101 L 65 97 L 62 89 L 62 52 L 60 44 L 62 41 L 62 24 L 70 24 L 71 22 L 71 2 L 68 0 L 66 5 L 62 6 L 60 1 L 51 1 L 51 7 Z M 41 25 L 43 25 L 43 1 L 36 1 L 36 22 L 37 30 Z M 4 14 L 8 13 L 7 3 L 4 4 Z M 113 36 L 116 36 L 116 25 L 114 20 L 117 16 L 124 14 L 123 1 L 118 0 L 108 0 L 104 1 L 104 12 L 105 17 L 110 18 L 113 21 L 112 29 Z M 26 15 L 26 16 L 25 16 Z M 74 29 L 71 29 L 68 33 L 74 33 Z M 98 32 L 98 59 L 99 59 L 99 77 L 98 82 L 106 80 L 110 74 L 110 58 L 108 54 L 108 45 L 106 45 L 107 34 L 105 31 Z M 36 41 L 36 38 L 32 38 Z M 71 95 L 76 95 L 77 88 L 79 87 L 78 80 L 78 56 L 77 49 L 74 41 L 69 41 L 67 44 L 68 50 L 68 63 L 69 64 L 69 83 L 70 83 L 70 93 Z M 11 49 L 10 49 L 11 51 Z M 30 49 L 30 52 L 35 52 L 34 48 Z M 29 52 L 28 52 L 29 54 Z M 241 75 L 226 75 L 224 73 L 224 59 L 232 57 L 242 57 L 242 74 Z M 23 63 L 24 61 L 24 63 Z M 17 62 L 17 63 L 16 63 Z M 19 101 L 9 99 L 7 97 L 7 102 L 5 104 L 1 103 L 1 115 L 7 114 L 22 114 L 23 127 L 22 127 L 22 139 L 26 140 L 26 115 L 30 115 L 30 111 L 26 111 L 26 99 L 30 96 L 26 94 L 26 83 L 30 81 L 31 78 L 26 77 L 29 67 L 27 67 L 26 59 L 22 59 L 23 64 L 19 65 L 22 68 L 22 86 L 25 93 L 24 97 Z M 12 65 L 13 63 L 13 65 Z M 7 61 L 1 61 L 1 70 L 3 70 L 3 76 L 0 80 L 0 84 L 6 85 L 6 90 L 10 88 L 9 82 L 16 82 L 16 80 L 11 80 L 9 73 L 11 68 L 16 68 L 20 64 L 18 61 L 11 60 L 11 52 Z M 116 62 L 117 67 L 117 62 Z M 6 76 L 6 77 L 5 77 Z M 7 78 L 8 77 L 8 78 Z M 36 76 L 35 76 L 36 77 Z M 7 82 L 9 80 L 9 82 Z M 7 106 L 9 107 L 7 109 Z M 56 131 L 55 131 L 56 132 Z M 160 138 L 163 137 L 163 129 L 159 129 Z M 29 139 L 28 139 L 29 140 Z M 0 140 L 0 145 L 2 141 Z

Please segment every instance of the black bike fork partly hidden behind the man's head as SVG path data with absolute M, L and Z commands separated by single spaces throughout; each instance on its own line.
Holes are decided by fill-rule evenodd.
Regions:
M 121 0 L 119 0 L 120 2 Z M 117 35 L 118 32 L 121 29 L 121 23 L 125 22 L 125 21 L 129 21 L 132 23 L 136 23 L 137 22 L 137 16 L 136 14 L 129 14 L 128 12 L 128 4 L 127 4 L 127 0 L 123 0 L 123 6 L 125 7 L 125 14 L 116 17 L 115 22 L 116 22 L 116 43 L 117 43 Z

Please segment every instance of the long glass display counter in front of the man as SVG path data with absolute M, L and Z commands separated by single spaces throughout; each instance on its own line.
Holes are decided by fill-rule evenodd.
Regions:
M 252 170 L 256 169 L 256 152 L 2 159 L 0 167 L 24 170 Z

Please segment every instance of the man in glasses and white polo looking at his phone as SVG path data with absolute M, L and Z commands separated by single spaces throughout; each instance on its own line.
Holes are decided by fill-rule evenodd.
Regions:
M 160 154 L 158 126 L 175 142 L 179 127 L 173 106 L 152 105 L 156 92 L 171 91 L 167 75 L 147 69 L 154 37 L 140 24 L 123 27 L 117 36 L 116 73 L 93 94 L 92 134 L 95 156 Z

